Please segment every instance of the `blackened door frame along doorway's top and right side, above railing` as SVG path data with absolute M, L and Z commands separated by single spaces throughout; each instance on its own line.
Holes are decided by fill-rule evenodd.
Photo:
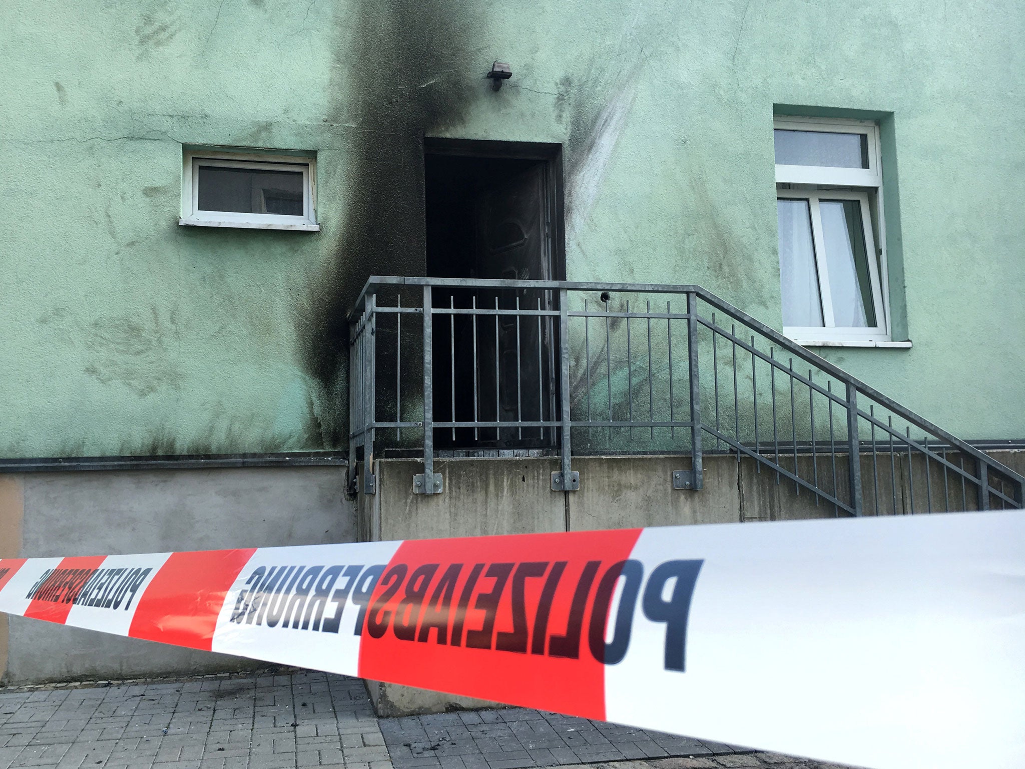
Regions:
M 546 236 L 551 280 L 566 280 L 566 216 L 562 145 L 542 141 L 499 141 L 425 136 L 423 138 L 423 154 L 543 161 Z M 423 179 L 425 185 L 425 173 Z M 423 195 L 425 198 L 425 190 Z M 424 216 L 426 216 L 426 206 L 424 206 Z

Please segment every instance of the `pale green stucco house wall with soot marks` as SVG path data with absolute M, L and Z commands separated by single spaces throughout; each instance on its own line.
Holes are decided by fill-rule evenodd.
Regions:
M 0 455 L 343 446 L 345 309 L 422 273 L 424 134 L 562 143 L 571 279 L 778 328 L 774 105 L 889 143 L 914 346 L 826 357 L 1025 437 L 1023 39 L 1015 0 L 7 0 Z M 178 227 L 183 144 L 316 151 L 322 232 Z

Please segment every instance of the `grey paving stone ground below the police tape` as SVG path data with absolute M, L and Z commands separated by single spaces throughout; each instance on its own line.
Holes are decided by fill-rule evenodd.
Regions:
M 359 679 L 272 671 L 0 688 L 0 769 L 827 769 L 524 709 L 378 719 Z

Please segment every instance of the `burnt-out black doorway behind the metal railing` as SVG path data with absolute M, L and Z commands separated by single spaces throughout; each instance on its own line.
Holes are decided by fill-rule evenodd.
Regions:
M 563 280 L 562 148 L 424 139 L 426 275 Z M 540 288 L 436 288 L 435 307 L 551 310 Z M 437 315 L 436 421 L 536 422 L 557 412 L 557 324 L 533 315 Z M 475 323 L 476 320 L 476 323 Z M 544 448 L 552 428 L 438 430 L 439 448 Z

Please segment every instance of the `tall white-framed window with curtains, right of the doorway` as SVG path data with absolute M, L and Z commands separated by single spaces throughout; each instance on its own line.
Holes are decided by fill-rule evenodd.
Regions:
M 774 127 L 783 332 L 889 341 L 878 127 L 779 117 Z

